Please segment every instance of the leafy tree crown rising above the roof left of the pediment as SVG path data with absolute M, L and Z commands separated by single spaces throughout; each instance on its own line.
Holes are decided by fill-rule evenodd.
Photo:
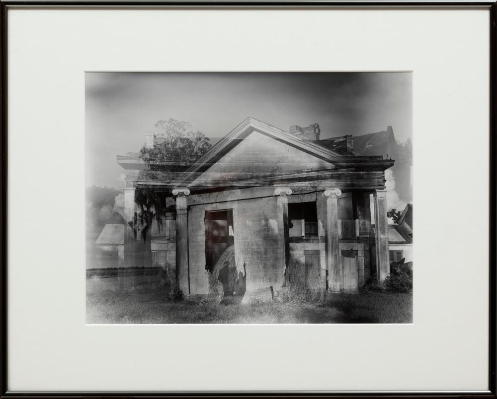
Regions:
M 160 120 L 154 126 L 161 130 L 155 135 L 154 146 L 140 150 L 140 157 L 152 162 L 152 170 L 183 171 L 189 163 L 195 162 L 211 148 L 209 137 L 198 131 L 190 131 L 192 125 L 188 122 L 168 119 Z

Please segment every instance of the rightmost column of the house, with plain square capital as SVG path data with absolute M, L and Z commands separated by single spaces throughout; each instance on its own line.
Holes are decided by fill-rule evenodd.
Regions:
M 387 191 L 375 190 L 374 220 L 375 220 L 375 249 L 376 275 L 380 281 L 390 273 L 388 256 L 388 221 L 387 221 Z

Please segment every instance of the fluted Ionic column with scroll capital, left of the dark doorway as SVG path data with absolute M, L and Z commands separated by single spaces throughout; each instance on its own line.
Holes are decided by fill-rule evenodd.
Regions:
M 188 272 L 188 210 L 186 196 L 188 189 L 174 189 L 172 195 L 176 197 L 176 289 L 183 291 L 183 295 L 190 293 Z

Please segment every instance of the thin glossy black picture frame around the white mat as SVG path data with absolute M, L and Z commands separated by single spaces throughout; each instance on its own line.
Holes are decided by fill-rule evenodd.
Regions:
M 489 203 L 490 203 L 490 220 L 489 220 L 489 388 L 488 392 L 324 392 L 324 393 L 309 393 L 309 392 L 11 392 L 7 387 L 7 356 L 8 356 L 8 335 L 7 335 L 7 170 L 8 170 L 8 126 L 7 126 L 7 24 L 8 24 L 8 9 L 13 6 L 23 7 L 240 7 L 240 8 L 267 8 L 267 7 L 317 7 L 317 8 L 437 8 L 437 9 L 454 9 L 454 8 L 469 8 L 478 7 L 486 8 L 490 13 L 489 37 L 490 37 L 490 179 L 489 179 Z M 446 397 L 446 398 L 496 398 L 497 391 L 497 334 L 496 334 L 496 187 L 497 187 L 497 2 L 495 1 L 400 1 L 400 0 L 349 0 L 349 1 L 333 1 L 333 0 L 4 0 L 0 2 L 0 19 L 1 19 L 1 98 L 0 98 L 0 126 L 1 126 L 1 162 L 0 162 L 0 396 L 3 398 L 161 398 L 161 397 L 346 397 L 346 398 L 411 398 L 411 397 Z

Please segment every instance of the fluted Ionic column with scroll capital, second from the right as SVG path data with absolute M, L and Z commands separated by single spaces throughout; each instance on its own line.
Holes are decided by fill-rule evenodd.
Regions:
M 338 244 L 338 197 L 340 197 L 341 191 L 339 189 L 328 189 L 325 190 L 323 195 L 327 197 L 326 252 L 329 279 L 328 284 L 331 291 L 339 291 L 343 285 L 340 268 L 340 248 Z

